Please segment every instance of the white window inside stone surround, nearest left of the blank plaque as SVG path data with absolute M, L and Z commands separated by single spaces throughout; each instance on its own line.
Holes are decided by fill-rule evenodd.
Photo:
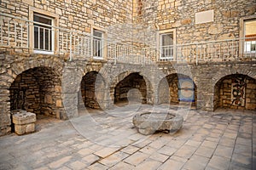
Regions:
M 160 59 L 173 59 L 173 32 L 160 34 Z

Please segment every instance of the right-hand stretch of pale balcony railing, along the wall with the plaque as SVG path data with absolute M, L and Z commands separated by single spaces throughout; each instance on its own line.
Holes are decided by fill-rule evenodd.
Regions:
M 237 59 L 256 59 L 255 45 L 255 37 L 176 44 L 169 46 L 169 51 L 174 52 L 172 56 L 169 55 L 166 59 L 165 55 L 161 54 L 159 59 L 196 63 Z

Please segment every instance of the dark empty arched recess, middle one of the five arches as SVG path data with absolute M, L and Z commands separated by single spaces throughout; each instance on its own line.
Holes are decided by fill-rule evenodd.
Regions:
M 127 105 L 129 101 L 147 103 L 147 85 L 139 73 L 131 73 L 114 88 L 114 104 Z

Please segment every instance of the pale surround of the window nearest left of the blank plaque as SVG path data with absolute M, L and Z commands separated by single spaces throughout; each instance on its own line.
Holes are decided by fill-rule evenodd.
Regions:
M 167 35 L 167 34 L 172 34 L 172 57 L 168 57 L 168 58 L 163 58 L 162 57 L 162 36 Z M 158 32 L 158 50 L 159 50 L 159 55 L 158 58 L 159 60 L 176 60 L 176 29 L 168 29 L 168 30 L 162 30 Z

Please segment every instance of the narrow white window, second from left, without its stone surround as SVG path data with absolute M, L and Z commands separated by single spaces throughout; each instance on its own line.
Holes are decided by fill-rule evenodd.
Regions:
M 103 35 L 102 31 L 93 30 L 93 57 L 103 58 Z

